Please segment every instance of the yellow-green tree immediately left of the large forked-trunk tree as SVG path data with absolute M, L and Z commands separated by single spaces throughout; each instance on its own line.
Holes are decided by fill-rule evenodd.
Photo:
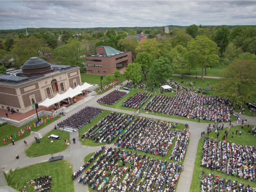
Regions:
M 185 71 L 188 59 L 187 54 L 188 51 L 182 45 L 177 45 L 174 49 L 172 49 L 172 67 L 181 73 Z

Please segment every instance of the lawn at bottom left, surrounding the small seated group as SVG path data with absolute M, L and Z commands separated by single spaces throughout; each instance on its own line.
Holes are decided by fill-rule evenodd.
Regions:
M 52 177 L 51 192 L 75 192 L 74 181 L 71 178 L 72 173 L 72 163 L 66 160 L 38 163 L 18 169 L 12 180 L 8 182 L 8 185 L 21 191 L 24 185 L 27 186 L 26 181 L 48 175 Z M 15 187 L 13 183 L 16 184 L 16 180 L 20 178 L 25 182 L 21 182 L 19 186 L 16 185 Z

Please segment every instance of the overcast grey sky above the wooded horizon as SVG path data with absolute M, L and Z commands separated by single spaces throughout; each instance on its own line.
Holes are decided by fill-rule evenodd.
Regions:
M 256 25 L 256 0 L 0 0 L 0 29 Z

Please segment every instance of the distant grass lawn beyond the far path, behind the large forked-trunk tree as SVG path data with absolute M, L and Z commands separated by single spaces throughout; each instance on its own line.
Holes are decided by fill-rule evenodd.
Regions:
M 203 76 L 220 77 L 221 73 L 225 68 L 226 66 L 223 65 L 223 60 L 219 59 L 219 63 L 211 64 L 211 69 L 209 69 L 209 67 L 206 68 L 207 75 L 204 75 L 205 74 L 205 69 L 204 69 Z M 201 78 L 202 67 L 197 66 L 195 70 L 190 71 L 190 75 L 196 75 L 196 72 L 197 72 L 197 77 Z M 174 74 L 180 74 L 180 72 L 174 71 Z M 184 74 L 186 74 L 185 71 L 184 71 Z

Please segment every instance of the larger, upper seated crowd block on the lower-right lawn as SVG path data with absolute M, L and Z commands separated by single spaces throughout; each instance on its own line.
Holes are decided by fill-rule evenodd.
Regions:
M 201 166 L 227 175 L 255 181 L 254 146 L 226 143 L 226 140 L 204 139 Z

